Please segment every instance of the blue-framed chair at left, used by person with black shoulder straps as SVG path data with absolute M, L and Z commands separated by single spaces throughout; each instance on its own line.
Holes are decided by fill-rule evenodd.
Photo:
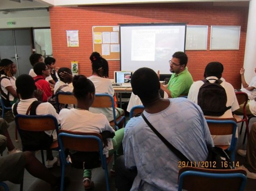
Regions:
M 39 123 L 39 120 L 42 119 L 46 119 L 48 122 L 50 122 L 50 120 L 52 120 L 52 123 L 48 123 L 48 124 L 42 124 Z M 19 120 L 21 120 L 23 122 L 22 126 L 19 124 Z M 29 122 L 29 120 L 34 120 L 33 123 Z M 24 124 L 25 121 L 27 122 L 27 124 Z M 37 122 L 39 121 L 39 122 Z M 20 129 L 23 130 L 27 130 L 27 131 L 47 131 L 47 130 L 56 130 L 56 133 L 58 135 L 58 122 L 57 119 L 52 116 L 52 115 L 22 115 L 22 114 L 18 114 L 15 116 L 15 123 L 16 123 L 16 127 L 18 129 L 18 131 L 20 132 Z M 53 128 L 53 126 L 55 126 Z M 58 145 L 56 146 L 56 148 L 54 150 L 59 150 Z M 44 152 L 43 150 L 41 150 L 41 156 L 42 156 L 42 164 L 45 165 L 45 159 L 44 159 Z

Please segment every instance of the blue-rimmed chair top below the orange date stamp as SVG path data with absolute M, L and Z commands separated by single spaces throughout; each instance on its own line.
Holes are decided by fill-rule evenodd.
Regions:
M 244 173 L 240 172 L 240 169 L 233 169 L 233 170 L 215 170 L 215 169 L 202 169 L 202 168 L 193 168 L 193 167 L 188 167 L 187 168 L 188 171 L 184 171 L 181 172 L 181 174 L 179 175 L 179 180 L 178 180 L 178 191 L 182 191 L 183 185 L 184 185 L 184 178 L 191 178 L 191 176 L 200 178 L 200 177 L 204 177 L 204 178 L 212 178 L 213 181 L 213 187 L 214 187 L 214 180 L 216 180 L 217 178 L 219 179 L 224 179 L 223 181 L 227 181 L 227 178 L 241 178 L 241 184 L 240 184 L 240 188 L 239 191 L 243 191 L 245 186 L 246 186 L 246 172 L 244 170 Z M 194 169 L 194 170 L 193 170 Z M 202 171 L 200 171 L 200 169 L 202 169 Z M 207 171 L 207 172 L 203 172 L 203 171 Z M 233 171 L 233 172 L 232 172 Z M 237 179 L 235 179 L 237 180 Z M 234 180 L 234 181 L 235 181 Z M 201 184 L 204 184 L 204 181 L 201 181 Z M 230 183 L 231 184 L 231 183 Z M 192 188 L 191 188 L 192 189 Z

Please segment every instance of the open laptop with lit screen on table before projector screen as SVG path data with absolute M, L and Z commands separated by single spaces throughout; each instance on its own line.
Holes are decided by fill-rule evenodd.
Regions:
M 119 87 L 132 87 L 131 77 L 132 71 L 114 71 L 114 84 L 113 86 Z

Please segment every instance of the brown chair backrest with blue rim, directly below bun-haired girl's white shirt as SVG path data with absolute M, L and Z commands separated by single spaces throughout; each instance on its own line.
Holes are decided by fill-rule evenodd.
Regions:
M 102 137 L 96 132 L 81 133 L 59 129 L 58 141 L 60 147 L 75 151 L 98 152 L 102 149 Z

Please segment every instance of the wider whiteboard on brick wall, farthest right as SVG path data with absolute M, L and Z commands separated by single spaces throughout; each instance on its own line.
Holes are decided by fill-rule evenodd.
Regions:
M 241 26 L 211 26 L 210 50 L 239 50 Z

